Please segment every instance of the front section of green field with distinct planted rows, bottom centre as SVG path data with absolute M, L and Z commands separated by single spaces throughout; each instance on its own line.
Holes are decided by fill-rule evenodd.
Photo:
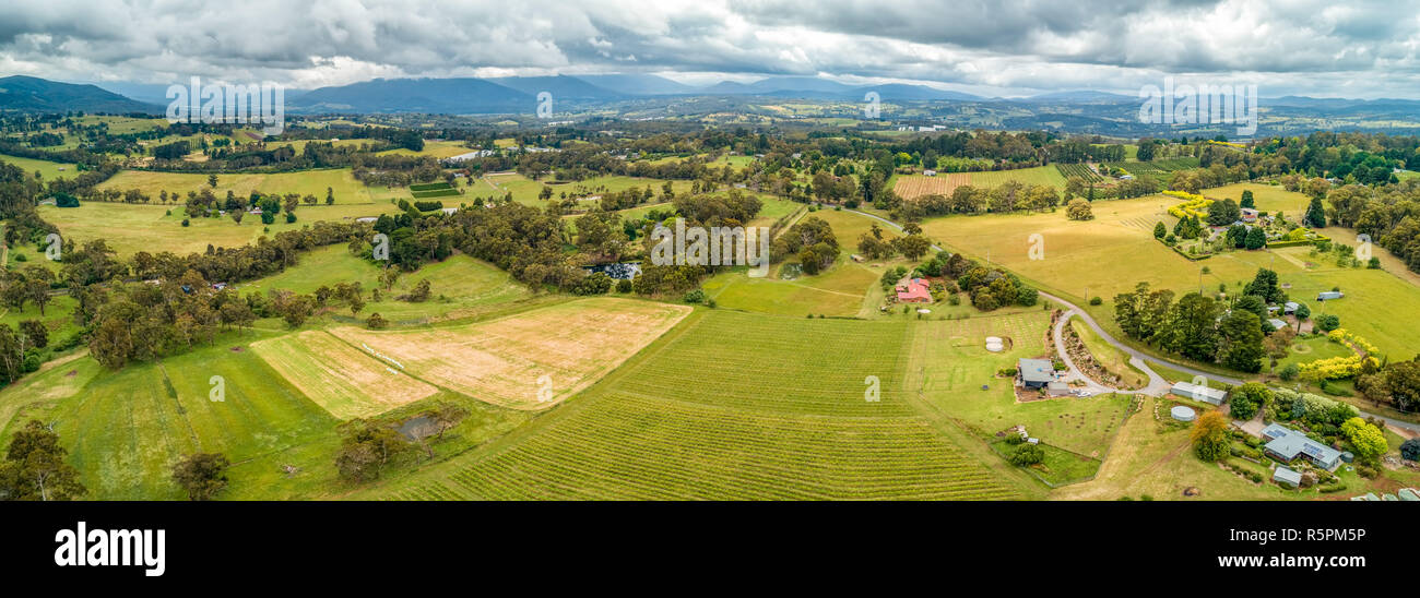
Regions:
M 398 499 L 1010 499 L 919 418 L 754 415 L 612 394 Z

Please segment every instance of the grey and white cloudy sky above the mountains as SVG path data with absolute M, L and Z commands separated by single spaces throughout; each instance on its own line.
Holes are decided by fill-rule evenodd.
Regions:
M 987 95 L 1420 98 L 1420 0 L 4 0 L 0 75 L 317 88 L 375 77 L 818 75 Z

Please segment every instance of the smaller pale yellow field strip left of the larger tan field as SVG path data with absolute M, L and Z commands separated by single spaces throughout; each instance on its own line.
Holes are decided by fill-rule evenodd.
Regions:
M 341 419 L 379 415 L 439 391 L 325 332 L 258 340 L 251 350 Z

